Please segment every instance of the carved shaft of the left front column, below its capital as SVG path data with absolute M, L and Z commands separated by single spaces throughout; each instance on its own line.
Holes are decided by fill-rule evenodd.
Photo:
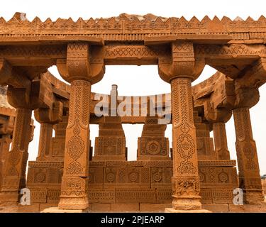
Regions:
M 89 176 L 89 104 L 91 83 L 71 83 L 60 209 L 86 209 Z

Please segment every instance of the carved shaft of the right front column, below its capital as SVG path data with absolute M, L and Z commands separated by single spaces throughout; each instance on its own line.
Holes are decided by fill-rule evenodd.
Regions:
M 176 78 L 172 90 L 174 209 L 201 209 L 191 79 Z

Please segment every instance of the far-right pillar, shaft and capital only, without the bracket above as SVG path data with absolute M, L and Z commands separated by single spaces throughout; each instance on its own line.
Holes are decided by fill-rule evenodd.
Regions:
M 236 97 L 233 118 L 235 121 L 235 149 L 238 157 L 239 187 L 243 189 L 245 203 L 264 201 L 257 148 L 253 139 L 249 110 L 259 99 L 258 90 L 238 89 Z

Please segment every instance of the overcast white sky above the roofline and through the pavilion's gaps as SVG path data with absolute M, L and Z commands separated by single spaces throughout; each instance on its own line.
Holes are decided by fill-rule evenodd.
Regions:
M 120 13 L 140 14 L 153 13 L 157 16 L 181 17 L 187 19 L 196 16 L 201 19 L 208 15 L 210 18 L 218 16 L 228 16 L 234 19 L 237 16 L 245 19 L 251 16 L 254 19 L 261 15 L 266 17 L 265 0 L 220 0 L 220 1 L 144 1 L 144 0 L 109 0 L 109 1 L 82 1 L 82 0 L 65 0 L 65 1 L 32 1 L 16 0 L 1 2 L 0 17 L 9 20 L 15 12 L 27 14 L 28 20 L 32 21 L 38 16 L 42 21 L 50 17 L 55 21 L 58 17 L 69 18 L 77 21 L 79 17 L 84 19 L 118 16 Z M 51 72 L 60 78 L 56 67 L 51 68 Z M 215 70 L 206 66 L 201 77 L 194 84 L 203 81 Z M 157 66 L 106 66 L 104 79 L 98 84 L 92 86 L 92 92 L 109 94 L 111 84 L 118 84 L 118 94 L 120 95 L 148 95 L 162 94 L 170 92 L 170 85 L 163 82 L 157 74 Z M 260 174 L 266 174 L 266 85 L 260 88 L 260 102 L 250 110 L 251 121 L 253 124 L 253 135 L 257 143 L 257 154 L 260 162 Z M 35 160 L 38 153 L 39 124 L 35 121 L 34 139 L 29 147 L 29 160 Z M 94 138 L 98 135 L 98 127 L 91 126 L 91 140 L 94 145 Z M 135 160 L 138 137 L 141 134 L 143 126 L 124 125 L 126 133 L 126 143 L 128 146 L 128 160 Z M 233 118 L 226 124 L 228 135 L 228 148 L 231 152 L 231 158 L 235 159 L 235 131 Z M 166 136 L 172 143 L 171 126 L 167 127 Z

